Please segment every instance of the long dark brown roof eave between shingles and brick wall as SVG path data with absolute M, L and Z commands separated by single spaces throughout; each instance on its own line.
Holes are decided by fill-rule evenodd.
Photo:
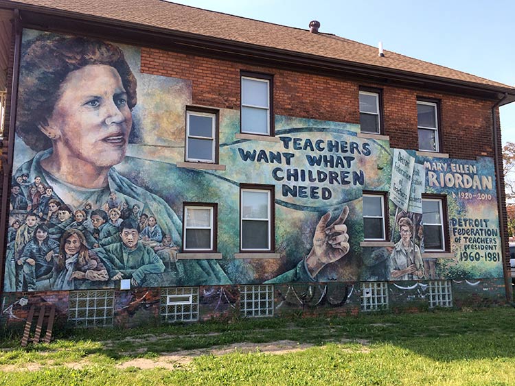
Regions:
M 0 8 L 19 9 L 22 12 L 22 23 L 27 27 L 40 29 L 56 29 L 63 32 L 79 32 L 100 37 L 113 36 L 112 40 L 124 43 L 141 41 L 145 45 L 160 47 L 163 49 L 179 49 L 181 51 L 203 50 L 207 56 L 228 54 L 236 56 L 238 60 L 251 62 L 264 62 L 268 65 L 279 67 L 298 67 L 304 71 L 324 71 L 328 73 L 340 73 L 343 76 L 370 78 L 372 82 L 387 84 L 411 85 L 414 88 L 429 88 L 439 91 L 482 96 L 488 99 L 501 99 L 505 94 L 507 98 L 501 106 L 515 101 L 515 88 L 467 82 L 447 77 L 426 75 L 411 71 L 391 69 L 359 62 L 350 62 L 314 56 L 297 51 L 286 51 L 263 47 L 250 43 L 242 43 L 235 40 L 226 40 L 192 34 L 174 29 L 165 29 L 149 25 L 120 21 L 117 19 L 102 18 L 89 14 L 80 14 L 54 8 L 45 8 L 38 5 L 16 3 L 16 1 L 0 0 Z M 99 26 L 102 27 L 99 29 Z M 106 35 L 106 32 L 111 32 Z M 153 36 L 150 40 L 149 37 Z M 159 39 L 155 39 L 159 36 Z M 139 37 L 139 38 L 138 38 Z M 152 43 L 150 43 L 152 41 Z

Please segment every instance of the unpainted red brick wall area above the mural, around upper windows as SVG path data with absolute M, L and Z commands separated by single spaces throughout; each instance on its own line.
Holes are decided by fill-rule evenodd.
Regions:
M 240 70 L 273 74 L 274 112 L 290 117 L 359 123 L 359 86 L 380 87 L 385 134 L 390 136 L 392 147 L 404 149 L 418 148 L 417 97 L 440 99 L 442 152 L 451 158 L 494 156 L 492 101 L 141 49 L 141 71 L 192 80 L 194 104 L 239 109 Z

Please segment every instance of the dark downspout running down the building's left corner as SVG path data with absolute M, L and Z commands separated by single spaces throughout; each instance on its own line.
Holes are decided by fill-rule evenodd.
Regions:
M 14 60 L 12 64 L 12 83 L 11 83 L 11 106 L 9 110 L 9 139 L 8 153 L 4 158 L 2 154 L 3 169 L 3 186 L 2 186 L 2 202 L 0 206 L 0 300 L 3 295 L 3 285 L 5 276 L 5 252 L 7 243 L 5 236 L 7 234 L 9 198 L 10 198 L 10 182 L 12 172 L 12 159 L 14 158 L 14 123 L 16 122 L 16 102 L 18 100 L 18 75 L 21 51 L 21 16 L 19 10 L 14 10 Z M 1 301 L 0 301 L 1 304 Z

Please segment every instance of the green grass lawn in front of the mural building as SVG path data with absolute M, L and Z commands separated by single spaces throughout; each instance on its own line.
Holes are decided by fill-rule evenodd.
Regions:
M 70 329 L 58 331 L 52 343 L 28 348 L 4 333 L 0 385 L 515 385 L 514 319 L 515 309 L 496 307 Z M 284 339 L 312 347 L 286 354 L 205 354 L 176 370 L 117 367 L 177 350 Z M 70 367 L 76 363 L 78 369 Z

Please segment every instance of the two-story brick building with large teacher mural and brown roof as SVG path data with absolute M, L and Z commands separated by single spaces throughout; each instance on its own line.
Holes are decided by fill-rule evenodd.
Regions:
M 511 300 L 498 108 L 515 88 L 315 21 L 0 8 L 3 322 Z

